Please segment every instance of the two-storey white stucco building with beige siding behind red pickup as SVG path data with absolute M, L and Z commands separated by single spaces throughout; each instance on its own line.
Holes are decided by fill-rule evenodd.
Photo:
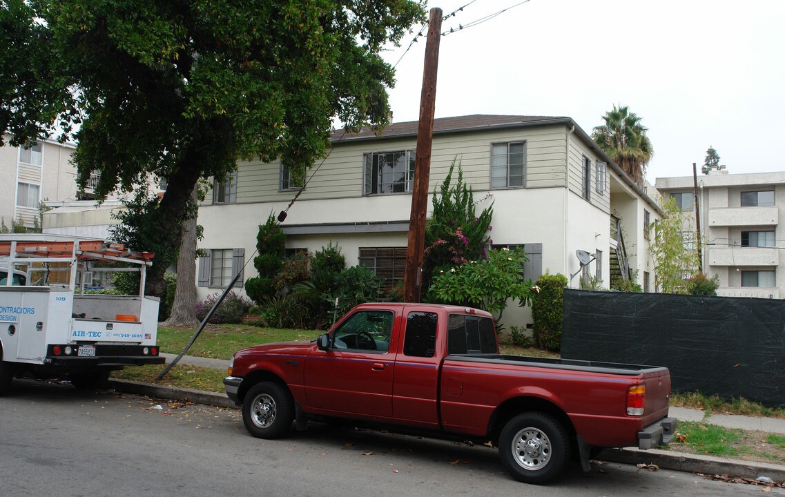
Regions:
M 331 242 L 341 247 L 347 265 L 371 267 L 388 286 L 401 280 L 417 129 L 418 122 L 400 122 L 379 137 L 370 130 L 334 133 L 330 155 L 309 171 L 313 176 L 282 225 L 287 248 L 316 252 Z M 526 277 L 582 273 L 610 287 L 616 272 L 653 291 L 645 227 L 661 210 L 571 118 L 436 119 L 430 193 L 454 159 L 473 188 L 477 210 L 493 203 L 493 246 L 524 246 L 530 258 Z M 214 185 L 199 207 L 199 247 L 208 254 L 198 265 L 199 299 L 220 291 L 253 258 L 258 225 L 284 210 L 298 186 L 280 163 L 261 161 L 239 163 L 229 181 Z M 582 268 L 576 250 L 594 259 Z M 243 278 L 255 272 L 249 264 Z M 579 287 L 579 280 L 571 280 L 571 287 Z M 504 318 L 531 324 L 528 309 L 516 305 Z

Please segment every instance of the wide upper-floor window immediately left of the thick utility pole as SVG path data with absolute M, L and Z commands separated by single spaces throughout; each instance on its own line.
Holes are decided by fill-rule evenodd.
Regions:
M 363 195 L 411 192 L 414 150 L 365 154 Z

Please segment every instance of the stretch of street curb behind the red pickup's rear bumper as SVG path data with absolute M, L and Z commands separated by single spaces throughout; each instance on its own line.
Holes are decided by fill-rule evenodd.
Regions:
M 728 475 L 753 480 L 758 477 L 769 477 L 773 481 L 785 481 L 785 466 L 766 462 L 721 459 L 710 455 L 685 454 L 684 452 L 658 449 L 641 451 L 637 448 L 607 448 L 601 451 L 595 459 L 625 464 L 655 464 L 663 470 L 688 473 Z

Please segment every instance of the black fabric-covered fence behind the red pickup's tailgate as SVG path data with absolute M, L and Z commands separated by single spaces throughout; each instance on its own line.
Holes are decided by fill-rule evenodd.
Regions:
M 564 290 L 564 359 L 670 369 L 674 392 L 785 406 L 785 301 Z

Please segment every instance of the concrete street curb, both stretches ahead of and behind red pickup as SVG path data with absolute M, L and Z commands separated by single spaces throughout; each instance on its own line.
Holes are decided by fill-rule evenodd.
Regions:
M 109 388 L 123 393 L 136 393 L 137 395 L 161 399 L 190 400 L 198 404 L 239 409 L 239 406 L 232 400 L 229 400 L 223 393 L 203 392 L 202 390 L 174 386 L 158 386 L 115 378 L 109 380 Z M 785 466 L 777 466 L 765 462 L 721 459 L 710 455 L 661 451 L 658 449 L 641 451 L 636 448 L 607 448 L 601 451 L 594 459 L 635 465 L 655 464 L 663 470 L 684 471 L 687 473 L 728 475 L 730 477 L 751 479 L 769 477 L 773 481 L 785 481 Z

